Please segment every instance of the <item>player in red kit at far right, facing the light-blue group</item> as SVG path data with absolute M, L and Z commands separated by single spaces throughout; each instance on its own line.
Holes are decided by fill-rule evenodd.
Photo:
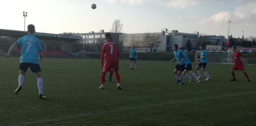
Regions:
M 244 60 L 243 60 L 242 55 L 240 54 L 240 52 L 236 51 L 236 46 L 232 46 L 232 50 L 233 50 L 233 54 L 232 54 L 233 67 L 231 68 L 230 72 L 232 74 L 233 79 L 231 81 L 236 81 L 236 76 L 235 76 L 234 71 L 239 70 L 239 71 L 244 72 L 244 76 L 246 77 L 246 79 L 249 82 L 251 82 L 251 80 L 248 78 L 247 73 L 244 71 L 245 65 L 244 65 Z

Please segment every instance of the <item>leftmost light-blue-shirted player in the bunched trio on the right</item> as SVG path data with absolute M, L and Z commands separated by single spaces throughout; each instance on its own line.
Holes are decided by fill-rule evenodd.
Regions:
M 175 59 L 177 60 L 177 64 L 174 68 L 174 74 L 178 80 L 175 83 L 181 82 L 179 85 L 184 85 L 184 78 L 182 76 L 182 72 L 185 69 L 187 61 L 185 61 L 185 56 L 183 52 L 178 49 L 178 44 L 174 44 L 172 46 L 172 50 L 174 52 L 175 58 L 171 60 L 171 62 L 173 62 Z

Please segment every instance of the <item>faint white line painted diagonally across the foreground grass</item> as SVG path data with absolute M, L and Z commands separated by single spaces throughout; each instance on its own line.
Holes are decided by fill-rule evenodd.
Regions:
M 9 126 L 19 126 L 19 125 L 30 125 L 30 124 L 57 122 L 57 121 L 60 121 L 60 120 L 66 120 L 66 119 L 70 119 L 70 118 L 78 118 L 78 117 L 84 117 L 84 116 L 92 116 L 92 115 L 96 115 L 96 114 L 105 114 L 105 113 L 120 112 L 120 111 L 126 111 L 126 110 L 138 109 L 138 108 L 147 108 L 147 107 L 152 107 L 152 106 L 162 106 L 162 105 L 166 105 L 166 104 L 192 102 L 192 101 L 197 101 L 197 100 L 209 100 L 209 99 L 224 98 L 224 97 L 230 97 L 230 96 L 240 96 L 240 95 L 246 95 L 246 94 L 254 94 L 254 93 L 256 93 L 256 92 L 246 92 L 246 93 L 229 94 L 229 95 L 216 96 L 216 97 L 210 97 L 210 98 L 200 98 L 200 99 L 193 99 L 193 100 L 181 100 L 181 101 L 175 101 L 175 102 L 158 103 L 158 104 L 151 104 L 151 105 L 141 106 L 141 107 L 125 108 L 125 109 L 122 109 L 122 110 L 119 109 L 119 110 L 114 110 L 114 111 L 89 112 L 89 113 L 78 114 L 78 115 L 74 115 L 74 116 L 64 116 L 64 117 L 60 117 L 60 118 L 53 118 L 53 119 L 47 119 L 47 120 L 29 121 L 29 122 L 23 122 L 23 123 L 19 123 L 19 124 L 10 124 Z

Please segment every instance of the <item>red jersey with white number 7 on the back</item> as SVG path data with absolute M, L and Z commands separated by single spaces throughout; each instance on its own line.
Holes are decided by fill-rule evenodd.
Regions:
M 104 61 L 109 60 L 118 60 L 118 56 L 120 56 L 118 46 L 114 42 L 107 40 L 101 49 L 101 63 L 103 64 Z

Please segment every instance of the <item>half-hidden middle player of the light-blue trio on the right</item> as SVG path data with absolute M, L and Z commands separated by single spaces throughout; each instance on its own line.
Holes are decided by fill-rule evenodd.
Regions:
M 180 48 L 180 50 L 183 52 L 183 48 Z M 183 52 L 183 53 L 184 53 L 184 52 Z M 185 70 L 183 71 L 182 75 L 185 75 L 187 78 L 189 78 L 189 79 L 190 79 L 189 82 L 192 82 L 192 81 L 194 80 L 194 78 L 196 78 L 197 83 L 200 83 L 201 80 L 200 80 L 200 79 L 198 78 L 198 76 L 196 76 L 196 74 L 193 72 L 193 70 L 192 70 L 192 64 L 191 64 L 190 60 L 188 59 L 187 54 L 184 53 L 184 56 L 185 56 L 186 66 L 185 66 Z M 194 76 L 194 78 L 191 79 L 191 77 L 190 77 L 188 74 L 186 74 L 187 71 L 190 72 L 190 74 L 191 74 L 192 76 Z

